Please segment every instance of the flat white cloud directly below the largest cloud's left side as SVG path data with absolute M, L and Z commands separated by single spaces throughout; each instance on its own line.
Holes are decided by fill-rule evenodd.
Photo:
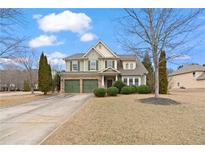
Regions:
M 63 42 L 58 42 L 57 38 L 54 35 L 40 35 L 29 41 L 29 47 L 38 48 L 42 46 L 51 46 L 51 45 L 60 45 Z

